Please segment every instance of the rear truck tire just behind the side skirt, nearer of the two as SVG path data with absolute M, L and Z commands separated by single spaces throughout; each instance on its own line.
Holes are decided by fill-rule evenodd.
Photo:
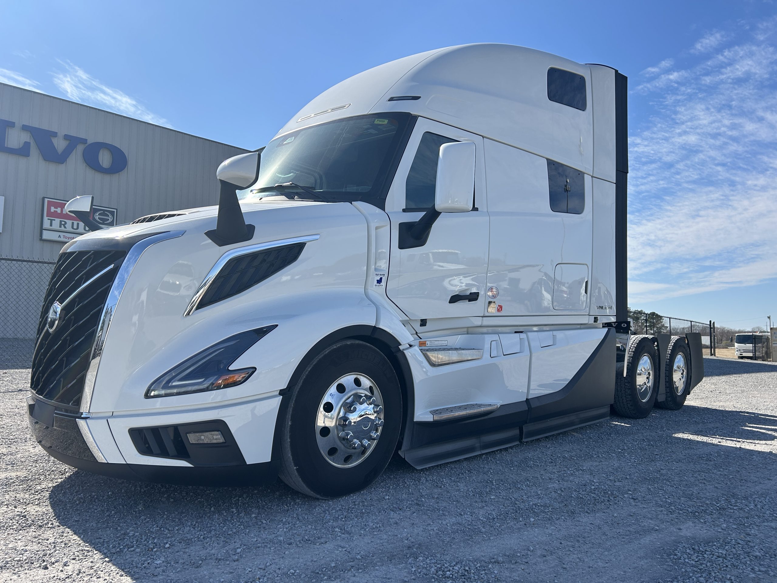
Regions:
M 658 352 L 653 337 L 635 336 L 626 351 L 625 376 L 615 375 L 615 403 L 612 408 L 621 417 L 643 419 L 656 402 Z

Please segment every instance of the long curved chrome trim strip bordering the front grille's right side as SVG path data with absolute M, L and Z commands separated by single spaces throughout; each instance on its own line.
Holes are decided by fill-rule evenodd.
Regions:
M 99 359 L 103 354 L 103 347 L 105 346 L 106 335 L 110 328 L 110 321 L 113 319 L 113 312 L 116 309 L 116 305 L 121 297 L 121 292 L 124 291 L 124 286 L 127 285 L 127 280 L 130 278 L 130 274 L 132 273 L 135 264 L 138 263 L 141 255 L 148 247 L 155 243 L 159 243 L 160 241 L 176 239 L 176 237 L 182 236 L 185 232 L 186 231 L 169 231 L 161 232 L 158 235 L 152 235 L 135 243 L 127 252 L 127 257 L 124 258 L 124 263 L 119 267 L 119 273 L 116 274 L 116 279 L 113 280 L 113 285 L 110 288 L 110 292 L 108 292 L 108 298 L 103 307 L 103 314 L 99 319 L 95 341 L 94 344 L 92 344 L 92 356 L 89 358 L 89 368 L 86 371 L 86 379 L 84 379 L 84 390 L 81 395 L 81 407 L 79 407 L 79 410 L 82 412 L 89 411 L 89 407 L 92 405 L 92 392 L 95 388 Z

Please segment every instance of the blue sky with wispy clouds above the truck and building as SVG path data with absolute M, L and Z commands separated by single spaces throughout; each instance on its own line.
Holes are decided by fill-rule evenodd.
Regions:
M 777 318 L 772 2 L 4 2 L 0 82 L 245 148 L 385 61 L 521 44 L 629 77 L 629 304 Z

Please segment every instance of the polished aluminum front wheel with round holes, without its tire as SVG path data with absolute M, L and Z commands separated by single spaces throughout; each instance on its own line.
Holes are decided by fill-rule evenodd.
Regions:
M 356 466 L 375 449 L 383 423 L 383 398 L 375 382 L 367 375 L 344 375 L 319 403 L 315 417 L 319 451 L 333 466 Z

